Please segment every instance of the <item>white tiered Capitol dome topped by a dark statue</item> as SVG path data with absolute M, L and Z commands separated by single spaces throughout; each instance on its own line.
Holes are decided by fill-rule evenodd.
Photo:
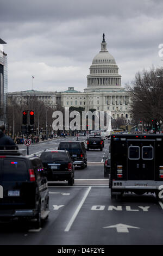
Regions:
M 114 89 L 117 87 L 121 87 L 121 75 L 118 74 L 115 58 L 106 48 L 105 34 L 103 33 L 101 51 L 92 60 L 85 92 Z

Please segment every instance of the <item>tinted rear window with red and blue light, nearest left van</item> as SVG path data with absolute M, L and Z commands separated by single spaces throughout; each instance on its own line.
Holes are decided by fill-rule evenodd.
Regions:
M 4 160 L 3 181 L 28 180 L 27 164 L 23 160 Z

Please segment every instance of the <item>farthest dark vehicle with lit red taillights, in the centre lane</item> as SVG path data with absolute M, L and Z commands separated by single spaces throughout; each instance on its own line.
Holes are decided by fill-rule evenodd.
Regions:
M 87 139 L 87 150 L 89 149 L 100 149 L 104 148 L 104 139 L 101 136 L 90 136 Z

